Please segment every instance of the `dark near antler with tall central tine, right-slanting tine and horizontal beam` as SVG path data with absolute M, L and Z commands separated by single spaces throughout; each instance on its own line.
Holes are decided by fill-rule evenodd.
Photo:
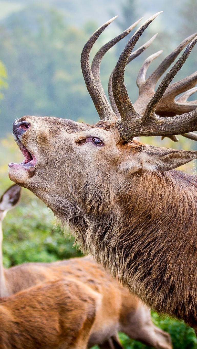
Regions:
M 124 51 L 122 52 L 119 61 L 114 69 L 113 78 L 112 78 L 112 89 L 115 99 L 115 103 L 118 107 L 118 110 L 121 114 L 121 121 L 117 122 L 121 137 L 125 141 L 131 140 L 134 136 L 155 136 L 155 135 L 174 135 L 190 131 L 197 130 L 197 111 L 192 110 L 186 114 L 181 114 L 175 117 L 162 118 L 156 115 L 156 109 L 159 105 L 159 102 L 164 95 L 164 92 L 167 90 L 171 80 L 174 78 L 178 70 L 182 67 L 185 60 L 188 58 L 192 48 L 197 42 L 197 37 L 195 37 L 191 43 L 188 45 L 187 49 L 181 56 L 181 58 L 176 62 L 176 64 L 171 68 L 167 73 L 166 77 L 162 80 L 159 88 L 154 93 L 153 97 L 150 99 L 145 111 L 142 115 L 138 114 L 132 105 L 127 90 L 124 84 L 124 70 L 126 66 L 127 59 L 131 50 L 138 39 L 139 30 L 133 35 L 126 45 Z M 180 45 L 181 46 L 181 45 Z M 177 51 L 177 50 L 175 50 Z M 158 54 L 158 53 L 157 53 Z M 176 55 L 175 55 L 176 57 Z M 152 61 L 155 56 L 152 56 L 150 61 Z M 161 76 L 162 71 L 166 70 L 170 60 L 169 56 L 168 62 L 160 65 L 160 69 L 156 69 L 155 80 L 157 77 Z M 163 62 L 162 62 L 163 63 Z M 171 64 L 171 63 L 170 63 Z M 142 69 L 143 71 L 143 69 Z M 155 72 L 154 72 L 155 73 Z M 143 74 L 141 74 L 143 80 Z M 158 79 L 159 79 L 158 77 Z M 189 77 L 190 78 L 190 77 Z M 187 88 L 186 88 L 187 90 Z

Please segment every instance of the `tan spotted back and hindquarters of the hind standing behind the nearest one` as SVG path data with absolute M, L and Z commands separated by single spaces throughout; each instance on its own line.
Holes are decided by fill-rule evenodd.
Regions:
M 52 280 L 59 279 L 67 283 L 70 281 L 80 283 L 82 294 L 84 287 L 86 287 L 86 294 L 90 290 L 89 295 L 93 293 L 96 302 L 96 314 L 88 347 L 98 344 L 101 348 L 102 345 L 110 348 L 110 341 L 115 341 L 113 338 L 116 338 L 117 331 L 121 331 L 132 339 L 156 349 L 171 349 L 169 334 L 153 325 L 149 308 L 131 295 L 117 280 L 112 280 L 110 274 L 90 257 L 54 263 L 27 263 L 9 268 L 7 271 L 10 281 L 14 281 L 14 288 L 11 289 L 14 292 L 30 284 L 37 283 L 42 287 L 43 282 L 49 284 Z M 38 313 L 42 317 L 41 309 L 37 310 L 37 316 Z M 52 331 L 54 332 L 51 329 L 51 333 Z

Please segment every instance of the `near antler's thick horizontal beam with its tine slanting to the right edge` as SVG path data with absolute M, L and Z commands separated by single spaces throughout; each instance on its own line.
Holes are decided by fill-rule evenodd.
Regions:
M 134 119 L 133 116 L 128 113 L 127 119 L 117 121 L 116 125 L 119 128 L 123 140 L 128 142 L 135 136 L 169 136 L 197 131 L 197 109 L 168 118 L 157 116 L 155 113 L 157 105 L 168 85 L 188 58 L 196 42 L 197 36 L 191 41 L 181 58 L 167 73 L 166 77 L 164 77 L 159 88 L 148 103 L 143 116 Z

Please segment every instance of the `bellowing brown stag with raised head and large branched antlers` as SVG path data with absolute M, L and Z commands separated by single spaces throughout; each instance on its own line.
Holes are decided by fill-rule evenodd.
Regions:
M 174 101 L 181 92 L 192 93 L 197 74 L 170 85 L 197 37 L 184 40 L 150 80 L 145 80 L 147 63 L 143 65 L 139 104 L 132 105 L 124 84 L 129 55 L 157 15 L 134 33 L 115 66 L 114 110 L 99 76 L 108 46 L 98 52 L 92 67 L 89 62 L 93 44 L 114 18 L 92 35 L 82 51 L 81 66 L 101 121 L 90 126 L 53 117 L 16 120 L 13 134 L 25 159 L 9 164 L 9 177 L 68 223 L 84 251 L 149 307 L 183 319 L 197 333 L 197 185 L 188 174 L 174 171 L 196 159 L 197 151 L 134 140 L 135 136 L 192 137 L 190 132 L 197 131 L 196 102 L 185 102 L 185 95 L 183 102 Z M 155 92 L 160 76 L 188 43 Z

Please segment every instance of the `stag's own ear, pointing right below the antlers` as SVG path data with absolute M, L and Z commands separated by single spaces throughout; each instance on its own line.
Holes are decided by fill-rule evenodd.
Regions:
M 142 151 L 141 160 L 144 170 L 169 171 L 187 164 L 196 158 L 197 151 L 159 148 L 146 144 L 146 147 Z

